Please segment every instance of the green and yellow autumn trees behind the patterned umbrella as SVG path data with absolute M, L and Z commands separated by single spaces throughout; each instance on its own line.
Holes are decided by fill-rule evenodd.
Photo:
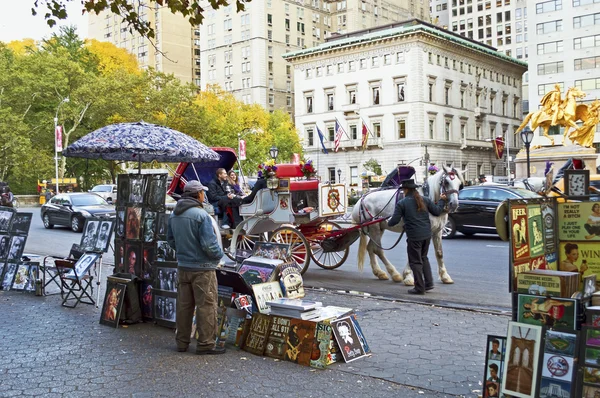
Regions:
M 73 28 L 42 43 L 0 42 L 0 70 L 0 179 L 17 193 L 33 193 L 37 180 L 54 177 L 55 117 L 65 147 L 105 125 L 140 120 L 234 149 L 238 133 L 255 131 L 244 137 L 249 174 L 272 145 L 280 162 L 301 152 L 287 113 L 243 104 L 218 87 L 198 93 L 173 75 L 139 69 L 124 49 L 80 40 Z M 115 181 L 126 165 L 62 157 L 59 166 L 60 176 L 80 178 L 89 189 Z

